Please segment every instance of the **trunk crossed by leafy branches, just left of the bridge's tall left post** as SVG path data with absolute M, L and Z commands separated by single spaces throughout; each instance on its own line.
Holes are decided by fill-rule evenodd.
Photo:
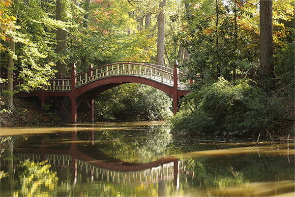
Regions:
M 59 21 L 65 21 L 65 0 L 57 0 L 57 4 L 56 4 L 56 19 Z M 58 28 L 57 31 L 57 48 L 56 48 L 56 52 L 60 53 L 62 51 L 66 50 L 66 31 Z M 57 62 L 57 70 L 58 73 L 56 73 L 56 77 L 59 78 L 59 73 L 61 73 L 63 75 L 63 77 L 66 77 L 66 65 L 64 63 L 62 63 L 61 61 Z

